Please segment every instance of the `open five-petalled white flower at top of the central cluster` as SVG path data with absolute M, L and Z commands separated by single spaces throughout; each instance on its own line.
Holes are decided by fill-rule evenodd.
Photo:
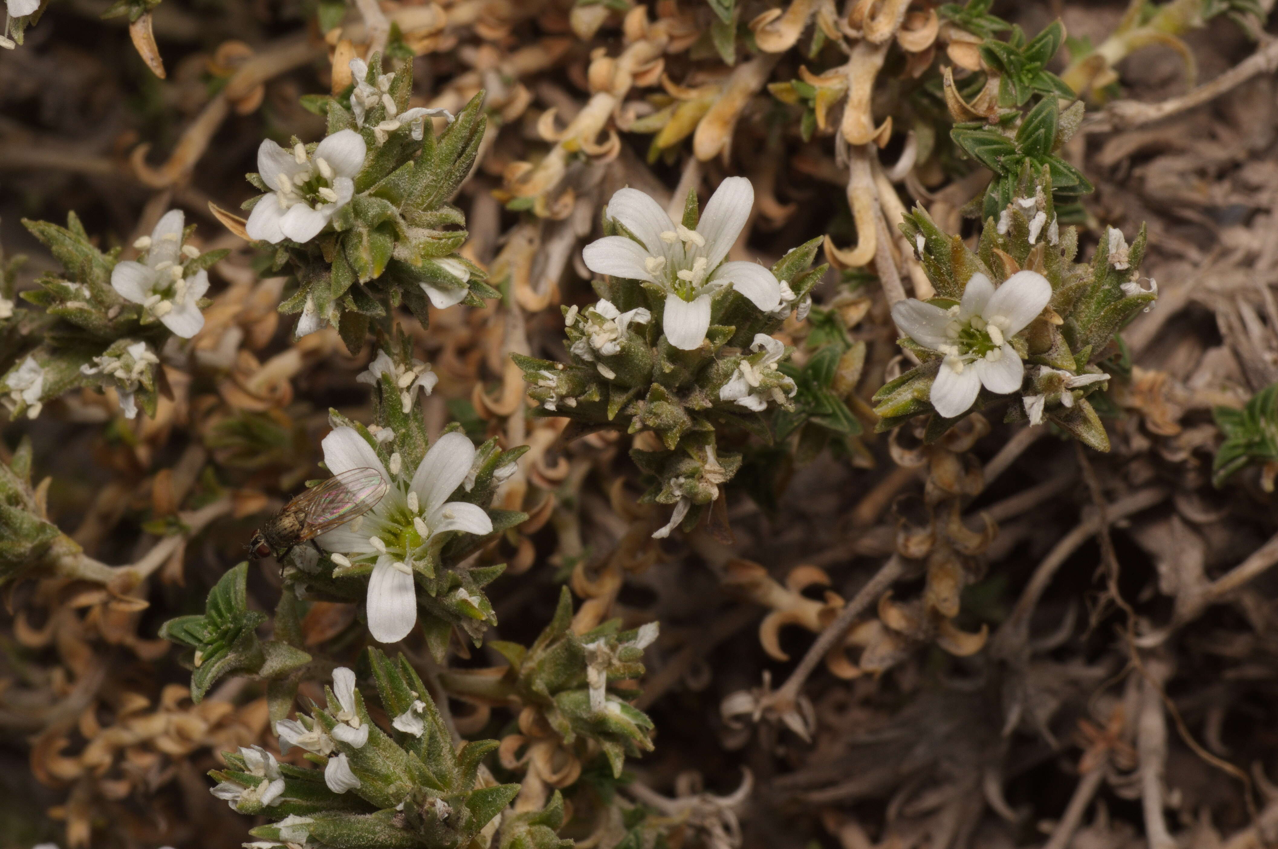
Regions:
M 689 230 L 643 192 L 621 189 L 608 200 L 607 216 L 635 239 L 604 236 L 587 245 L 581 259 L 599 274 L 661 285 L 667 292 L 666 338 L 691 351 L 705 338 L 716 289 L 732 286 L 763 312 L 781 305 L 781 283 L 771 271 L 758 263 L 723 262 L 753 206 L 750 181 L 727 177 L 705 204 L 697 230 Z

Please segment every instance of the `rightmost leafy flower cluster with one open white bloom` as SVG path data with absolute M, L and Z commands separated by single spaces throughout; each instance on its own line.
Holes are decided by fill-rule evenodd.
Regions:
M 969 411 L 1012 396 L 1008 420 L 1047 420 L 1108 451 L 1088 396 L 1107 386 L 1103 366 L 1120 355 L 1117 333 L 1158 296 L 1157 285 L 1140 285 L 1144 230 L 1127 245 L 1111 227 L 1093 263 L 1075 263 L 1079 237 L 1059 227 L 1052 172 L 1026 165 L 1015 197 L 997 220 L 987 218 L 976 253 L 921 208 L 902 231 L 937 297 L 892 308 L 902 346 L 920 365 L 874 396 L 879 428 L 934 412 L 927 429 L 933 440 Z

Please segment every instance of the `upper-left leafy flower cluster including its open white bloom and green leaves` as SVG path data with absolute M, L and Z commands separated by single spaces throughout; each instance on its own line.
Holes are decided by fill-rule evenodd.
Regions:
M 328 134 L 288 148 L 263 140 L 248 179 L 265 194 L 244 204 L 247 221 L 224 221 L 275 245 L 275 268 L 290 267 L 298 287 L 280 310 L 302 314 L 295 337 L 331 324 L 354 352 L 372 322 L 390 331 L 400 304 L 428 324 L 429 305 L 479 305 L 497 292 L 455 253 L 465 217 L 449 203 L 484 134 L 483 92 L 454 117 L 409 107 L 412 64 L 383 74 L 374 55 L 351 60 L 350 71 L 351 86 L 317 106 Z M 431 117 L 447 120 L 438 137 L 427 131 Z

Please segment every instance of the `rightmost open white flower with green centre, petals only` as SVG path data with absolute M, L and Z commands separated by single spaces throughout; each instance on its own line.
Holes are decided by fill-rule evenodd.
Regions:
M 962 415 L 980 387 L 1007 394 L 1021 388 L 1025 366 L 1008 340 L 1033 322 L 1052 299 L 1043 274 L 1019 271 L 997 290 L 973 274 L 962 301 L 948 310 L 914 297 L 892 306 L 892 319 L 919 345 L 944 354 L 932 383 L 932 406 L 946 419 Z

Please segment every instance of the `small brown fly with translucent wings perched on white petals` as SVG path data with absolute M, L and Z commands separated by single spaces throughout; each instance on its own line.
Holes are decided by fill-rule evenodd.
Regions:
M 249 557 L 281 564 L 295 545 L 363 516 L 382 500 L 389 484 L 376 469 L 348 469 L 302 493 L 266 521 L 249 540 Z

